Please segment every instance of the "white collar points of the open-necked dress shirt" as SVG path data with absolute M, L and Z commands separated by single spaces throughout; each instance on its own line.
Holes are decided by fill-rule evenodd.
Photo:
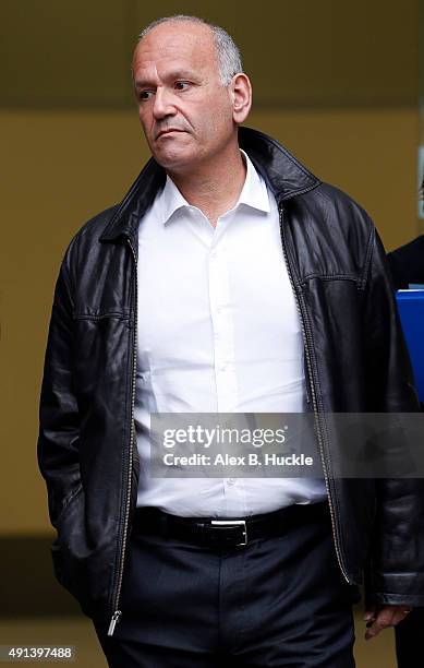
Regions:
M 240 150 L 245 165 L 246 165 L 246 178 L 240 193 L 239 200 L 233 208 L 237 208 L 240 204 L 245 204 L 252 208 L 257 208 L 265 213 L 270 212 L 269 196 L 266 183 L 264 179 L 256 171 L 249 155 L 241 148 Z M 167 175 L 165 188 L 160 193 L 161 199 L 161 218 L 163 225 L 173 216 L 173 214 L 180 208 L 187 207 L 194 208 L 183 198 L 179 189 L 172 179 Z

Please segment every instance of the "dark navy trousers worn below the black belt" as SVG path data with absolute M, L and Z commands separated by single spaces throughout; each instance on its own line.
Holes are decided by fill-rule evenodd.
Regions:
M 327 506 L 326 506 L 327 508 Z M 111 668 L 352 668 L 358 587 L 338 568 L 329 513 L 281 537 L 213 550 L 131 537 Z

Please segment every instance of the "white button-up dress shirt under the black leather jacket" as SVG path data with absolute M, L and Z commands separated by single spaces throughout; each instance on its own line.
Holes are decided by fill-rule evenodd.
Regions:
M 249 156 L 214 228 L 167 177 L 138 229 L 137 505 L 243 517 L 326 498 L 316 478 L 152 478 L 150 413 L 302 413 L 303 338 L 276 200 Z

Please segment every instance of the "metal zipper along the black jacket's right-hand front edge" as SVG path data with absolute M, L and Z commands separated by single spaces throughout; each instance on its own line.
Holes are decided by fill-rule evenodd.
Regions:
M 332 538 L 334 538 L 337 561 L 339 563 L 340 571 L 341 571 L 344 580 L 348 582 L 348 584 L 351 584 L 350 580 L 349 580 L 349 577 L 347 575 L 346 569 L 343 566 L 342 558 L 341 558 L 341 551 L 340 551 L 339 540 L 338 540 L 337 530 L 336 530 L 335 509 L 334 509 L 334 505 L 332 505 L 331 490 L 330 490 L 330 486 L 329 486 L 329 480 L 328 480 L 327 469 L 326 469 L 326 463 L 325 463 L 325 455 L 324 455 L 324 448 L 323 448 L 323 440 L 324 439 L 323 439 L 323 433 L 322 433 L 322 430 L 320 430 L 320 419 L 319 419 L 319 411 L 318 411 L 318 405 L 317 405 L 317 398 L 316 398 L 316 392 L 315 392 L 315 384 L 314 384 L 313 367 L 312 367 L 312 360 L 311 360 L 310 342 L 311 342 L 312 336 L 311 336 L 311 332 L 310 332 L 308 321 L 305 318 L 306 308 L 305 308 L 305 303 L 304 303 L 304 300 L 303 300 L 303 295 L 298 294 L 298 290 L 296 290 L 296 288 L 294 286 L 293 274 L 292 274 L 289 257 L 288 257 L 287 249 L 286 249 L 286 237 L 284 237 L 284 230 L 283 230 L 283 224 L 282 224 L 282 215 L 283 215 L 283 207 L 281 206 L 279 208 L 279 220 L 280 220 L 280 237 L 281 237 L 281 244 L 282 244 L 282 253 L 283 253 L 283 257 L 284 257 L 286 266 L 287 266 L 287 270 L 288 270 L 291 287 L 292 287 L 292 290 L 293 290 L 293 294 L 294 294 L 294 297 L 295 297 L 295 302 L 296 302 L 296 307 L 298 307 L 298 311 L 299 311 L 299 315 L 300 315 L 300 321 L 301 321 L 301 325 L 302 325 L 303 343 L 304 343 L 305 353 L 306 353 L 306 371 L 307 371 L 307 377 L 308 377 L 310 387 L 311 387 L 311 394 L 312 394 L 312 406 L 313 406 L 313 410 L 314 410 L 314 418 L 315 418 L 315 424 L 316 424 L 317 434 L 318 434 L 319 455 L 320 455 L 320 460 L 322 460 L 322 464 L 323 464 L 324 478 L 325 478 L 325 485 L 326 485 L 327 497 L 328 497 L 328 505 L 329 505 L 329 509 L 330 509 Z

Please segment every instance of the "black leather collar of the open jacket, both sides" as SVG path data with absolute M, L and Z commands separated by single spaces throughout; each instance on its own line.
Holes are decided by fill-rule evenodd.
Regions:
M 278 203 L 320 183 L 289 151 L 263 132 L 239 128 L 239 144 L 269 184 Z M 165 170 L 150 158 L 106 226 L 100 241 L 112 241 L 121 235 L 134 237 L 140 218 L 165 181 Z

